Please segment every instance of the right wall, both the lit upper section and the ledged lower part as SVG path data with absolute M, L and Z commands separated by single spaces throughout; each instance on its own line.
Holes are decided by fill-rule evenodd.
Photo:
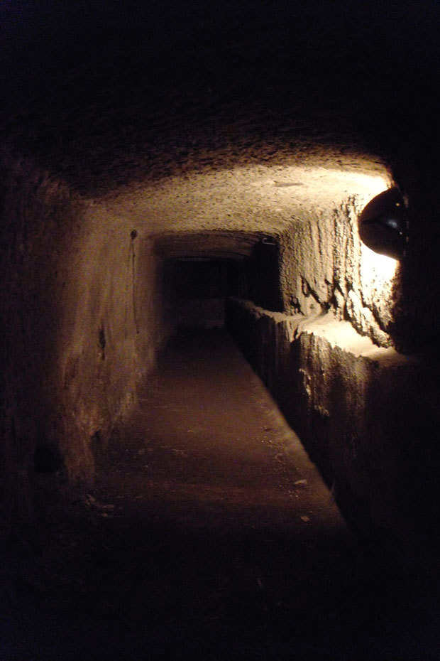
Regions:
M 281 240 L 287 311 L 231 299 L 226 323 L 365 541 L 404 563 L 430 561 L 436 359 L 393 347 L 401 267 L 361 245 L 361 208 L 348 200 L 297 222 Z

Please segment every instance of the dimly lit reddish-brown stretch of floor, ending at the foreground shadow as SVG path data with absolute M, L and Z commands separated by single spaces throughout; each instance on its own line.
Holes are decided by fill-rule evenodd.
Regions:
M 345 530 L 299 439 L 217 328 L 186 328 L 164 353 L 114 436 L 97 490 L 120 501 L 121 515 L 194 530 L 281 527 L 304 539 L 308 525 Z

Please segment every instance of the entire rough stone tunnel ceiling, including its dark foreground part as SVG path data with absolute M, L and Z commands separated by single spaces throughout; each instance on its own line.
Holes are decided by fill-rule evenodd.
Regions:
M 273 234 L 375 194 L 436 117 L 434 1 L 19 9 L 0 16 L 1 137 L 149 234 Z

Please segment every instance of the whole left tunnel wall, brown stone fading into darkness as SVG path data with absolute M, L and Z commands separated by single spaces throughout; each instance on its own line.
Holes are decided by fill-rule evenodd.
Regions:
M 9 517 L 87 486 L 167 329 L 153 247 L 2 156 L 0 476 Z

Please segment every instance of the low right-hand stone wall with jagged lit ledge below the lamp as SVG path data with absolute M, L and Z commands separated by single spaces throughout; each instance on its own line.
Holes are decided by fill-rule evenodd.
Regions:
M 378 348 L 332 313 L 287 316 L 230 299 L 226 324 L 371 548 L 434 571 L 435 357 Z

